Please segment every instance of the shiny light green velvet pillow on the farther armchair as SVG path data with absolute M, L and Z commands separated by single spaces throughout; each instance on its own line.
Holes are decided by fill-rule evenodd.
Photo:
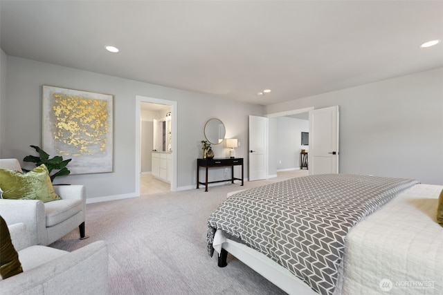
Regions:
M 0 188 L 3 191 L 3 199 L 42 200 L 42 202 L 60 200 L 44 164 L 28 173 L 0 169 Z

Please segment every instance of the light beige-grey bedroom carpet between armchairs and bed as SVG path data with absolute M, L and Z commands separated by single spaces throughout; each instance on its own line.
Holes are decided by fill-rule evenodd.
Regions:
M 217 267 L 206 250 L 206 219 L 226 193 L 284 178 L 87 204 L 90 238 L 73 231 L 51 247 L 73 251 L 105 240 L 111 294 L 284 294 L 233 256 Z

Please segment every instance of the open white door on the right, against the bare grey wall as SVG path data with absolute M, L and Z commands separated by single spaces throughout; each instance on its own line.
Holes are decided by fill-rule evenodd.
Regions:
M 309 175 L 338 173 L 338 106 L 309 111 Z

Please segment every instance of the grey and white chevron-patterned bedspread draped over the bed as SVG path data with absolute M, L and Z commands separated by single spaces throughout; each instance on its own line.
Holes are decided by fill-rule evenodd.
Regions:
M 332 294 L 347 232 L 416 180 L 324 174 L 292 178 L 230 196 L 208 218 L 216 229 L 289 269 L 320 294 Z

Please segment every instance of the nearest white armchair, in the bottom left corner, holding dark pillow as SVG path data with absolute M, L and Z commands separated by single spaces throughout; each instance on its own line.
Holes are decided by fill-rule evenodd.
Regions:
M 31 245 L 26 225 L 9 225 L 23 272 L 1 280 L 0 294 L 109 294 L 107 245 L 100 240 L 67 252 Z

